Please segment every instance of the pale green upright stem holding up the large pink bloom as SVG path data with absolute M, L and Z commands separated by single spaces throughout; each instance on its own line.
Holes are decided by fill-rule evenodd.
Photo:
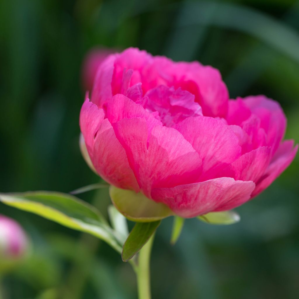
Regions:
M 139 299 L 151 299 L 150 291 L 150 255 L 155 235 L 149 238 L 148 242 L 141 248 L 136 269 L 137 287 Z

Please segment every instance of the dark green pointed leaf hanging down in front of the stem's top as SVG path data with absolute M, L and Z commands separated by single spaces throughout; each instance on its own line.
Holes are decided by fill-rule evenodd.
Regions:
M 123 245 L 121 258 L 124 262 L 130 260 L 145 245 L 156 231 L 161 220 L 155 222 L 137 222 Z

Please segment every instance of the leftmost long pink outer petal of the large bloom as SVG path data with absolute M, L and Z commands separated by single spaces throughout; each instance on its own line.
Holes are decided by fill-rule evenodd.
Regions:
M 104 119 L 103 109 L 87 99 L 80 113 L 80 128 L 97 173 L 110 184 L 139 191 L 126 152 L 117 140 L 112 125 Z

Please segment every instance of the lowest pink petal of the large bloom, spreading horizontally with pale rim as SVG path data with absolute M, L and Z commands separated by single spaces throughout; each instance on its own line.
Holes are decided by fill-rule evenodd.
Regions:
M 181 217 L 191 218 L 211 211 L 230 210 L 250 199 L 255 184 L 218 178 L 173 188 L 152 190 L 152 198 L 168 205 Z

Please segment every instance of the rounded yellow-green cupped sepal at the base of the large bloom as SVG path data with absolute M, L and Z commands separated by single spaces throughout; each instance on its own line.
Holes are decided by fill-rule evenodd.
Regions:
M 135 222 L 152 222 L 173 215 L 173 211 L 162 203 L 148 199 L 142 193 L 110 186 L 113 205 L 127 219 Z

